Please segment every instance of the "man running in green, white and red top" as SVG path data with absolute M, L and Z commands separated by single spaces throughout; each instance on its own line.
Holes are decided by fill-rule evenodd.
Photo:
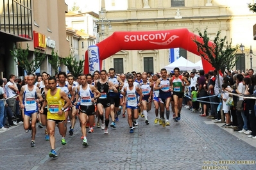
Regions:
M 172 78 L 171 88 L 173 89 L 175 121 L 178 122 L 180 120 L 180 111 L 182 110 L 184 86 L 189 86 L 190 83 L 183 75 L 180 75 L 180 68 L 176 67 L 173 71 L 175 72 L 175 76 Z

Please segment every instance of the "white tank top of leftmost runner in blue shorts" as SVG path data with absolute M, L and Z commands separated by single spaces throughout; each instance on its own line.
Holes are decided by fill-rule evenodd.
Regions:
M 25 91 L 23 93 L 23 104 L 25 111 L 36 111 L 38 110 L 37 102 L 37 87 L 33 86 L 33 90 L 28 89 L 28 84 L 25 85 Z

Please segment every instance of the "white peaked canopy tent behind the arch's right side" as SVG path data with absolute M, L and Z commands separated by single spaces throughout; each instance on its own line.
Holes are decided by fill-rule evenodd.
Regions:
M 164 66 L 164 68 L 166 68 L 166 70 L 169 72 L 173 71 L 173 68 L 175 68 L 175 67 L 180 68 L 180 70 L 193 70 L 194 68 L 196 70 L 201 69 L 200 65 L 196 65 L 195 63 L 192 63 L 191 61 L 189 61 L 183 57 L 176 59 L 175 62 L 173 62 L 167 66 Z

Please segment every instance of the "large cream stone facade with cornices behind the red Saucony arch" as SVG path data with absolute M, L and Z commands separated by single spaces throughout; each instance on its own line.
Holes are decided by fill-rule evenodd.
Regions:
M 122 0 L 120 0 L 122 1 Z M 107 1 L 106 1 L 107 2 Z M 253 41 L 252 26 L 255 24 L 256 15 L 249 11 L 247 1 L 239 0 L 214 0 L 212 6 L 205 6 L 207 1 L 185 0 L 183 7 L 171 7 L 171 1 L 148 1 L 150 8 L 143 8 L 142 1 L 128 1 L 127 10 L 107 10 L 107 20 L 110 20 L 114 31 L 155 31 L 166 29 L 187 28 L 198 35 L 198 29 L 203 32 L 207 29 L 211 40 L 221 30 L 221 37 L 226 36 L 228 42 L 245 46 L 245 55 L 248 55 L 250 45 L 256 54 L 256 43 Z M 107 5 L 106 5 L 107 6 Z M 175 19 L 176 11 L 180 10 L 182 19 Z M 242 53 L 237 50 L 237 53 Z M 169 49 L 165 50 L 124 50 L 105 59 L 106 69 L 113 67 L 114 58 L 123 58 L 124 72 L 144 71 L 144 57 L 153 57 L 154 72 L 169 65 Z M 256 56 L 255 56 L 256 58 Z M 256 59 L 253 58 L 253 69 L 256 69 Z M 187 52 L 187 59 L 196 63 L 200 56 Z M 246 57 L 246 68 L 250 68 L 250 58 Z

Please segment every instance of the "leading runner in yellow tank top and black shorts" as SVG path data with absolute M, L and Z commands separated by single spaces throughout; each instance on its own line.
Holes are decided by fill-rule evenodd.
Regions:
M 65 113 L 64 110 L 71 105 L 71 101 L 67 97 L 64 91 L 61 89 L 57 89 L 56 79 L 55 77 L 49 78 L 49 87 L 50 89 L 46 93 L 46 100 L 44 100 L 44 104 L 40 109 L 40 113 L 44 112 L 44 107 L 48 108 L 47 112 L 47 127 L 49 129 L 50 136 L 50 145 L 51 151 L 49 153 L 49 157 L 57 157 L 57 153 L 55 151 L 55 126 L 58 125 L 58 130 L 60 135 L 64 136 L 65 134 Z M 65 105 L 64 105 L 64 102 Z M 65 143 L 65 138 L 62 137 L 62 144 Z

